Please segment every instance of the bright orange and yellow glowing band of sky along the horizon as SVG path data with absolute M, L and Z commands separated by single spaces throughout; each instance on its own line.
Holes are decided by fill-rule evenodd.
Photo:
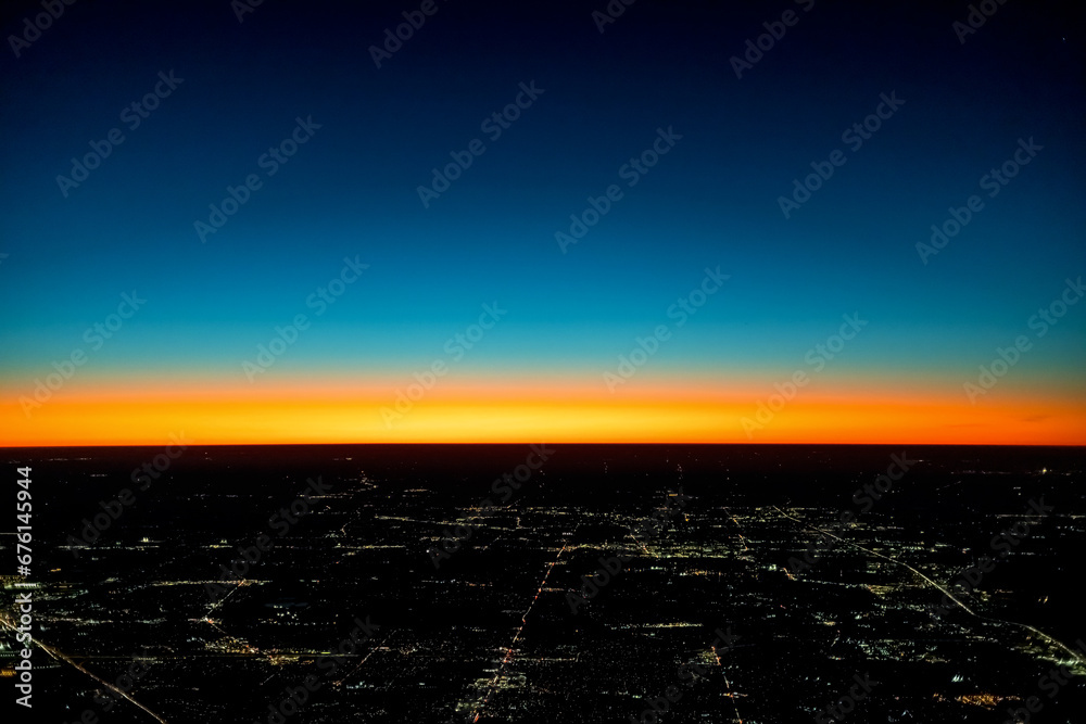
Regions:
M 112 385 L 111 385 L 112 386 Z M 763 427 L 758 394 L 647 385 L 609 394 L 598 385 L 531 389 L 476 382 L 426 392 L 402 417 L 387 385 L 289 383 L 210 391 L 61 391 L 30 417 L 4 401 L 3 446 L 326 443 L 796 443 L 1084 445 L 1086 410 L 1065 398 L 1015 395 L 970 405 L 962 395 L 920 399 L 868 390 L 804 390 Z M 765 395 L 762 395 L 765 398 Z M 405 405 L 401 404 L 401 409 Z M 386 410 L 382 415 L 382 408 Z M 386 418 L 389 418 L 389 424 Z

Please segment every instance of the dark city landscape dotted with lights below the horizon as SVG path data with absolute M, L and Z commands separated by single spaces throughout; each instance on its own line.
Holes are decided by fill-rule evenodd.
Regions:
M 5 677 L 34 597 L 18 721 L 1084 710 L 1081 449 L 161 453 L 7 450 L 37 479 L 35 574 L 3 587 Z

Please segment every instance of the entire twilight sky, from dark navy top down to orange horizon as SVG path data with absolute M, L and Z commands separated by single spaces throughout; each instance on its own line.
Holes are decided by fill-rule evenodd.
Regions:
M 1086 444 L 1081 11 L 358 4 L 5 5 L 0 444 Z

